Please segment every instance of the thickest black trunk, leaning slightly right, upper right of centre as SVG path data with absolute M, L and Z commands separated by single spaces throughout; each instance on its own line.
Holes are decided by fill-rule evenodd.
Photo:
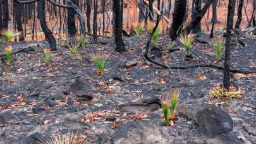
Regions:
M 178 33 L 180 33 L 181 25 L 186 15 L 186 3 L 187 0 L 175 0 L 174 11 L 173 11 L 173 23 L 169 30 L 171 40 L 176 40 Z

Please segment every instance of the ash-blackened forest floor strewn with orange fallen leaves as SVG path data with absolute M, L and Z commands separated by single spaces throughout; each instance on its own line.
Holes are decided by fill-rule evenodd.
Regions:
M 236 38 L 242 39 L 247 47 L 241 46 Z M 24 141 L 32 141 L 30 139 L 34 137 L 30 135 L 35 133 L 50 138 L 69 131 L 87 136 L 88 143 L 113 143 L 116 132 L 123 125 L 140 121 L 156 123 L 161 135 L 168 136 L 174 143 L 197 143 L 200 141 L 197 124 L 186 117 L 178 116 L 173 126 L 161 126 L 162 111 L 157 97 L 173 88 L 181 90 L 179 104 L 222 107 L 232 117 L 236 135 L 256 143 L 255 133 L 248 132 L 256 131 L 256 112 L 252 108 L 256 107 L 255 74 L 232 75 L 233 85 L 243 91 L 242 99 L 226 100 L 225 103 L 224 100 L 210 99 L 209 91 L 222 83 L 221 70 L 160 68 L 143 57 L 146 40 L 147 35 L 125 37 L 128 51 L 122 54 L 113 52 L 112 39 L 88 44 L 86 52 L 80 50 L 76 56 L 72 56 L 66 47 L 61 47 L 52 52 L 49 63 L 44 61 L 43 54 L 47 42 L 11 44 L 14 51 L 28 45 L 32 45 L 32 49 L 13 55 L 9 69 L 3 61 L 0 62 L 0 143 L 26 143 Z M 162 35 L 159 48 L 166 47 L 169 42 L 169 36 Z M 233 36 L 233 68 L 255 70 L 255 47 L 256 37 L 250 32 Z M 181 45 L 177 43 L 173 48 L 181 48 Z M 1 49 L 3 51 L 3 46 Z M 207 63 L 223 65 L 223 61 L 215 61 L 214 47 L 210 44 L 194 42 L 192 50 Z M 92 52 L 111 54 L 103 76 L 97 75 L 97 69 L 88 56 Z M 151 53 L 156 61 L 159 61 L 159 52 Z M 192 55 L 193 61 L 185 61 L 183 49 L 171 52 L 168 54 L 169 64 L 202 63 Z M 1 58 L 3 60 L 3 56 Z M 125 68 L 127 61 L 135 59 L 135 66 Z M 92 100 L 78 99 L 73 92 L 76 88 L 71 90 L 71 85 L 79 78 L 93 89 Z M 79 87 L 79 83 L 75 87 Z M 153 127 L 148 129 L 154 131 Z

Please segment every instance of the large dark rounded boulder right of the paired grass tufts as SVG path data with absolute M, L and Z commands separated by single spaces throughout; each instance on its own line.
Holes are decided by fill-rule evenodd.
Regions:
M 197 112 L 198 132 L 212 138 L 233 130 L 233 120 L 218 107 L 207 107 Z

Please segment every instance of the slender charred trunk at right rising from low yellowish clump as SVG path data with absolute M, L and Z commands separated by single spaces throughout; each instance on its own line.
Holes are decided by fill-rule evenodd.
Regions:
M 231 86 L 230 82 L 230 41 L 231 41 L 231 29 L 233 27 L 233 18 L 235 13 L 236 1 L 229 0 L 228 4 L 228 18 L 226 28 L 226 45 L 225 45 L 225 57 L 224 57 L 224 71 L 223 71 L 223 86 L 225 90 L 229 90 Z

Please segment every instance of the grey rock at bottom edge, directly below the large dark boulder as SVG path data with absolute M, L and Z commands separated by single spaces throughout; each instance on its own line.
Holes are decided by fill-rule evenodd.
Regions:
M 214 138 L 210 138 L 205 141 L 206 144 L 242 144 L 243 142 L 236 136 L 233 131 L 222 133 Z

